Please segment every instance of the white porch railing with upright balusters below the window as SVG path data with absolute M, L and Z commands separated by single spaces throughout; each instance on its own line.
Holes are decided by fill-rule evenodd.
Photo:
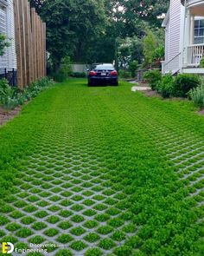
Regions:
M 187 47 L 188 67 L 198 68 L 203 56 L 204 56 L 204 43 L 189 45 Z

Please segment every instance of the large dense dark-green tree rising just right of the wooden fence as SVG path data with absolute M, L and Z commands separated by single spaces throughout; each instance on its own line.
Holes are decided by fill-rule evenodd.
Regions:
M 65 56 L 86 62 L 92 41 L 105 34 L 104 10 L 101 0 L 44 1 L 41 17 L 47 23 L 47 47 L 56 68 Z

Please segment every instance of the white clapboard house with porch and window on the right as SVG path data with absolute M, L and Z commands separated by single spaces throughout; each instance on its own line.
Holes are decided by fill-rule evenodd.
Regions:
M 163 27 L 166 32 L 163 74 L 203 74 L 200 61 L 204 56 L 204 1 L 170 0 Z

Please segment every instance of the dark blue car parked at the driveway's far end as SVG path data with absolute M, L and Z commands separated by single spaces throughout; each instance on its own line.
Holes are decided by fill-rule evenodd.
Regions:
M 88 70 L 88 86 L 110 84 L 118 86 L 118 72 L 112 64 L 96 64 Z

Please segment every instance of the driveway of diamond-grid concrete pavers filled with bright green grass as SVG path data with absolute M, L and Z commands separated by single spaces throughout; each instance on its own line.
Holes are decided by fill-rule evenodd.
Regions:
M 0 129 L 1 241 L 56 256 L 203 255 L 203 149 L 190 102 L 125 82 L 56 84 Z

